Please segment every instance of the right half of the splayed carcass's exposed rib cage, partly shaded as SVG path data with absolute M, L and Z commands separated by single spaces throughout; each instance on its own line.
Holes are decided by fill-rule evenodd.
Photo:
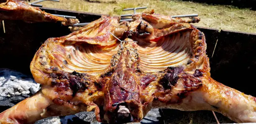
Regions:
M 159 72 L 167 67 L 187 64 L 192 54 L 189 42 L 190 32 L 163 37 L 158 42 L 151 42 L 150 47 L 138 46 L 140 69 L 145 72 Z

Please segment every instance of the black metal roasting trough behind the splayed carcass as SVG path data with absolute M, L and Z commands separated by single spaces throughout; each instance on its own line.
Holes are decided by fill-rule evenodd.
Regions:
M 100 14 L 68 10 L 42 10 L 59 15 L 76 16 L 80 22 L 91 22 Z M 210 58 L 211 77 L 229 87 L 256 96 L 256 34 L 197 27 L 204 32 L 207 55 Z M 61 23 L 26 23 L 5 21 L 5 33 L 0 25 L 0 68 L 14 69 L 31 75 L 30 62 L 44 41 L 50 37 L 68 35 L 70 30 Z M 164 111 L 164 109 L 163 109 Z

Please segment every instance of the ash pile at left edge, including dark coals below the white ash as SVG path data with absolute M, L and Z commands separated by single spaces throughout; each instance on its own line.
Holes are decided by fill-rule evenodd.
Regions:
M 0 112 L 33 95 L 40 89 L 31 77 L 9 69 L 0 69 Z

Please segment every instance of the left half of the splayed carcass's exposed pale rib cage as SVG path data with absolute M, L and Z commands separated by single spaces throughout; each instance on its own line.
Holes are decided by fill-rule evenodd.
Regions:
M 56 45 L 50 47 L 54 55 L 56 67 L 66 72 L 101 74 L 110 66 L 110 59 L 118 51 L 118 44 L 102 48 L 95 45 Z M 59 52 L 65 50 L 63 55 Z

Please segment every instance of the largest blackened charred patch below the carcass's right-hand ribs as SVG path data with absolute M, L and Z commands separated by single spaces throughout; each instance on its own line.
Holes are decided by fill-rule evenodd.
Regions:
M 180 74 L 184 67 L 168 67 L 164 77 L 160 80 L 160 84 L 163 85 L 164 89 L 172 88 L 178 81 Z

